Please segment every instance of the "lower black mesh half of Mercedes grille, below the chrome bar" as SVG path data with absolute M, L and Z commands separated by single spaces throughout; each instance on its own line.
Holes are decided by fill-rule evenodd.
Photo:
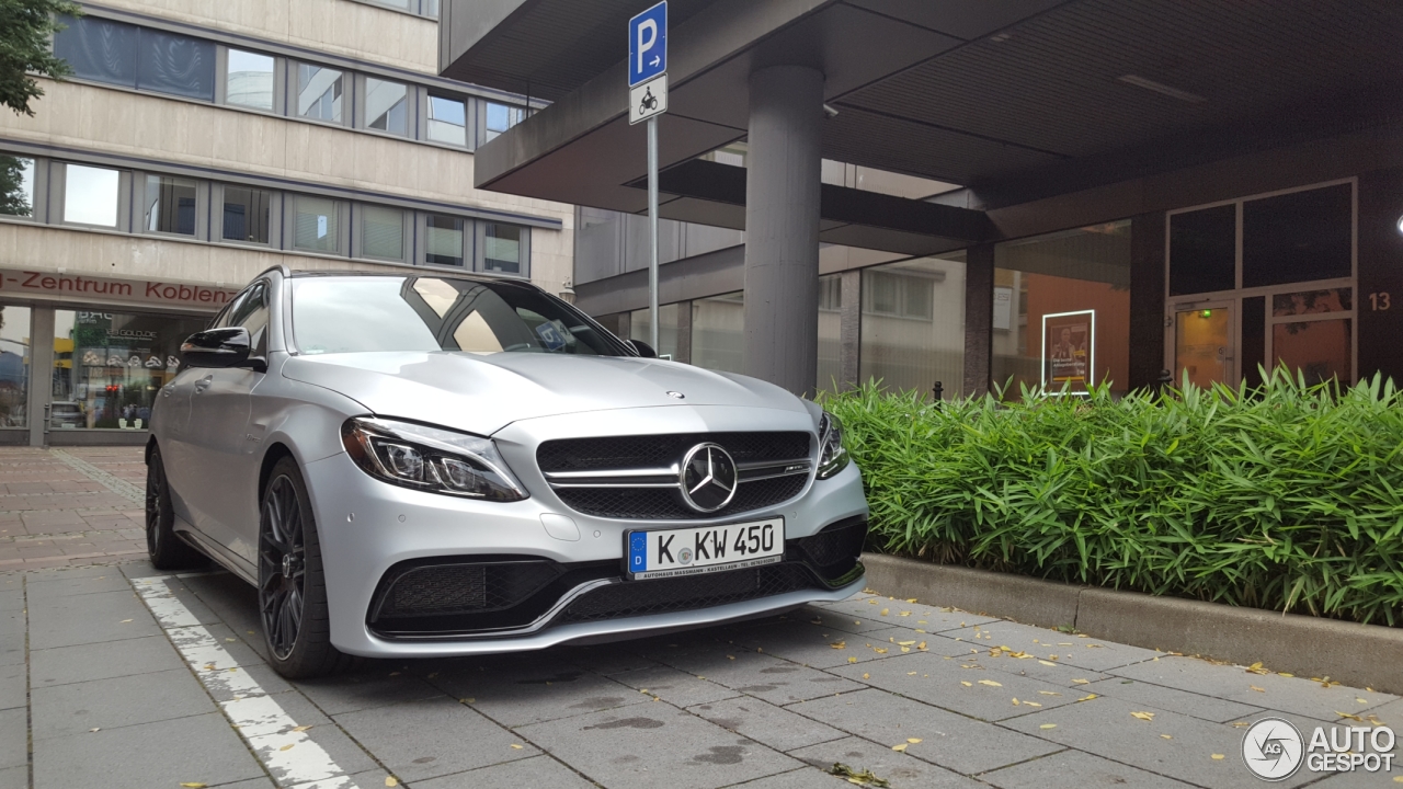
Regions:
M 742 482 L 735 498 L 721 510 L 702 514 L 682 503 L 675 489 L 666 487 L 561 487 L 556 496 L 567 507 L 600 518 L 675 521 L 682 518 L 723 518 L 772 507 L 794 498 L 804 490 L 808 475 L 790 475 Z

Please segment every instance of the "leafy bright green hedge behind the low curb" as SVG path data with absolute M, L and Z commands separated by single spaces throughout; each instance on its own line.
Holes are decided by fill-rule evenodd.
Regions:
M 825 397 L 868 546 L 1338 619 L 1403 623 L 1403 394 L 1271 376 L 1115 399 Z

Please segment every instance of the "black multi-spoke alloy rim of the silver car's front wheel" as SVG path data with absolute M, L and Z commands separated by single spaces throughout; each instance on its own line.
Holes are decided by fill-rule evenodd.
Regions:
M 268 484 L 258 536 L 258 608 L 268 647 L 278 660 L 292 657 L 306 608 L 307 550 L 302 503 L 288 476 Z

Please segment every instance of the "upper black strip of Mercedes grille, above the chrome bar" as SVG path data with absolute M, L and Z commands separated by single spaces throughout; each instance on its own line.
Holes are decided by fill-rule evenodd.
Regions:
M 543 472 L 666 468 L 709 441 L 737 463 L 808 459 L 807 432 L 687 432 L 547 441 L 536 449 L 536 463 Z

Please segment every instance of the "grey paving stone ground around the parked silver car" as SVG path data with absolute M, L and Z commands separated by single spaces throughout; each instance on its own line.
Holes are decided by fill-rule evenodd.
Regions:
M 13 533 L 73 533 L 31 535 L 25 517 L 102 507 L 112 512 L 76 517 L 129 525 L 81 533 L 139 529 L 133 504 L 27 508 L 140 479 L 139 452 L 69 452 L 81 462 L 0 455 L 6 496 L 27 497 L 11 504 Z M 25 484 L 62 490 L 14 487 Z M 231 576 L 153 581 L 161 573 L 145 559 L 111 564 L 130 553 L 63 556 L 108 564 L 0 566 L 0 789 L 852 786 L 826 772 L 835 762 L 894 788 L 1230 788 L 1260 785 L 1240 751 L 1243 724 L 1261 717 L 1308 736 L 1341 720 L 1403 729 L 1403 699 L 1388 694 L 880 595 L 286 682 L 264 663 L 253 590 Z M 1395 778 L 1403 769 L 1302 771 L 1284 785 L 1403 785 Z

